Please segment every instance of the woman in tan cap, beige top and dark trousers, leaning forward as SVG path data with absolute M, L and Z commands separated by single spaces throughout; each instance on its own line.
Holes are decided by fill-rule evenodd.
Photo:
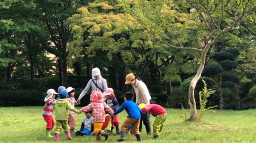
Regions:
M 146 84 L 141 81 L 140 77 L 134 76 L 133 73 L 129 73 L 125 77 L 125 80 L 126 80 L 125 84 L 130 84 L 134 88 L 137 105 L 140 105 L 142 103 L 148 105 L 151 103 L 152 100 L 151 100 L 150 93 L 148 92 L 148 88 Z M 139 129 L 140 132 L 142 130 L 142 121 L 146 127 L 147 134 L 151 135 L 150 115 L 148 113 L 141 115 L 140 129 Z

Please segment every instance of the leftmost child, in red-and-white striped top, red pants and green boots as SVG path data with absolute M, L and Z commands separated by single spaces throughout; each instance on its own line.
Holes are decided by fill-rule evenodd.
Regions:
M 46 132 L 45 135 L 47 137 L 53 137 L 50 135 L 50 131 L 53 129 L 55 124 L 54 119 L 52 117 L 53 105 L 55 104 L 55 95 L 59 95 L 55 92 L 54 89 L 47 90 L 47 96 L 45 97 L 45 106 L 43 107 L 43 119 L 45 119 L 46 125 Z

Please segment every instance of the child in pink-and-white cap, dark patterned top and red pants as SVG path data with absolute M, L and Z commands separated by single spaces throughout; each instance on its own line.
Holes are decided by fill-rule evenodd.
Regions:
M 105 103 L 112 108 L 112 110 L 115 112 L 116 109 L 119 107 L 118 101 L 116 100 L 115 94 L 114 94 L 114 90 L 112 88 L 107 88 L 106 89 L 106 99 L 105 99 Z M 118 115 L 114 115 L 112 116 L 112 128 L 111 128 L 111 132 L 113 132 L 113 128 L 115 126 L 116 128 L 116 134 L 120 134 L 119 131 L 119 121 L 118 121 Z

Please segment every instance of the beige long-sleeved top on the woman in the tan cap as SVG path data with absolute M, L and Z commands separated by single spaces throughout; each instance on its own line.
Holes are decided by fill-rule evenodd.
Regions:
M 136 79 L 135 85 L 133 86 L 136 94 L 136 104 L 140 105 L 144 103 L 146 105 L 150 104 L 151 96 L 148 92 L 148 88 L 144 82 Z

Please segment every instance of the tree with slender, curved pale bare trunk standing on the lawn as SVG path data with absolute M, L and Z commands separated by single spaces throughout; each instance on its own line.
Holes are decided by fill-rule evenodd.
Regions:
M 132 7 L 127 4 L 125 8 L 152 38 L 170 48 L 201 53 L 200 66 L 188 88 L 190 120 L 197 121 L 194 89 L 201 77 L 207 51 L 221 35 L 239 29 L 244 18 L 255 13 L 255 0 L 187 0 L 188 13 L 179 13 L 178 7 L 167 0 L 132 2 Z M 187 39 L 191 35 L 195 37 L 194 41 Z

